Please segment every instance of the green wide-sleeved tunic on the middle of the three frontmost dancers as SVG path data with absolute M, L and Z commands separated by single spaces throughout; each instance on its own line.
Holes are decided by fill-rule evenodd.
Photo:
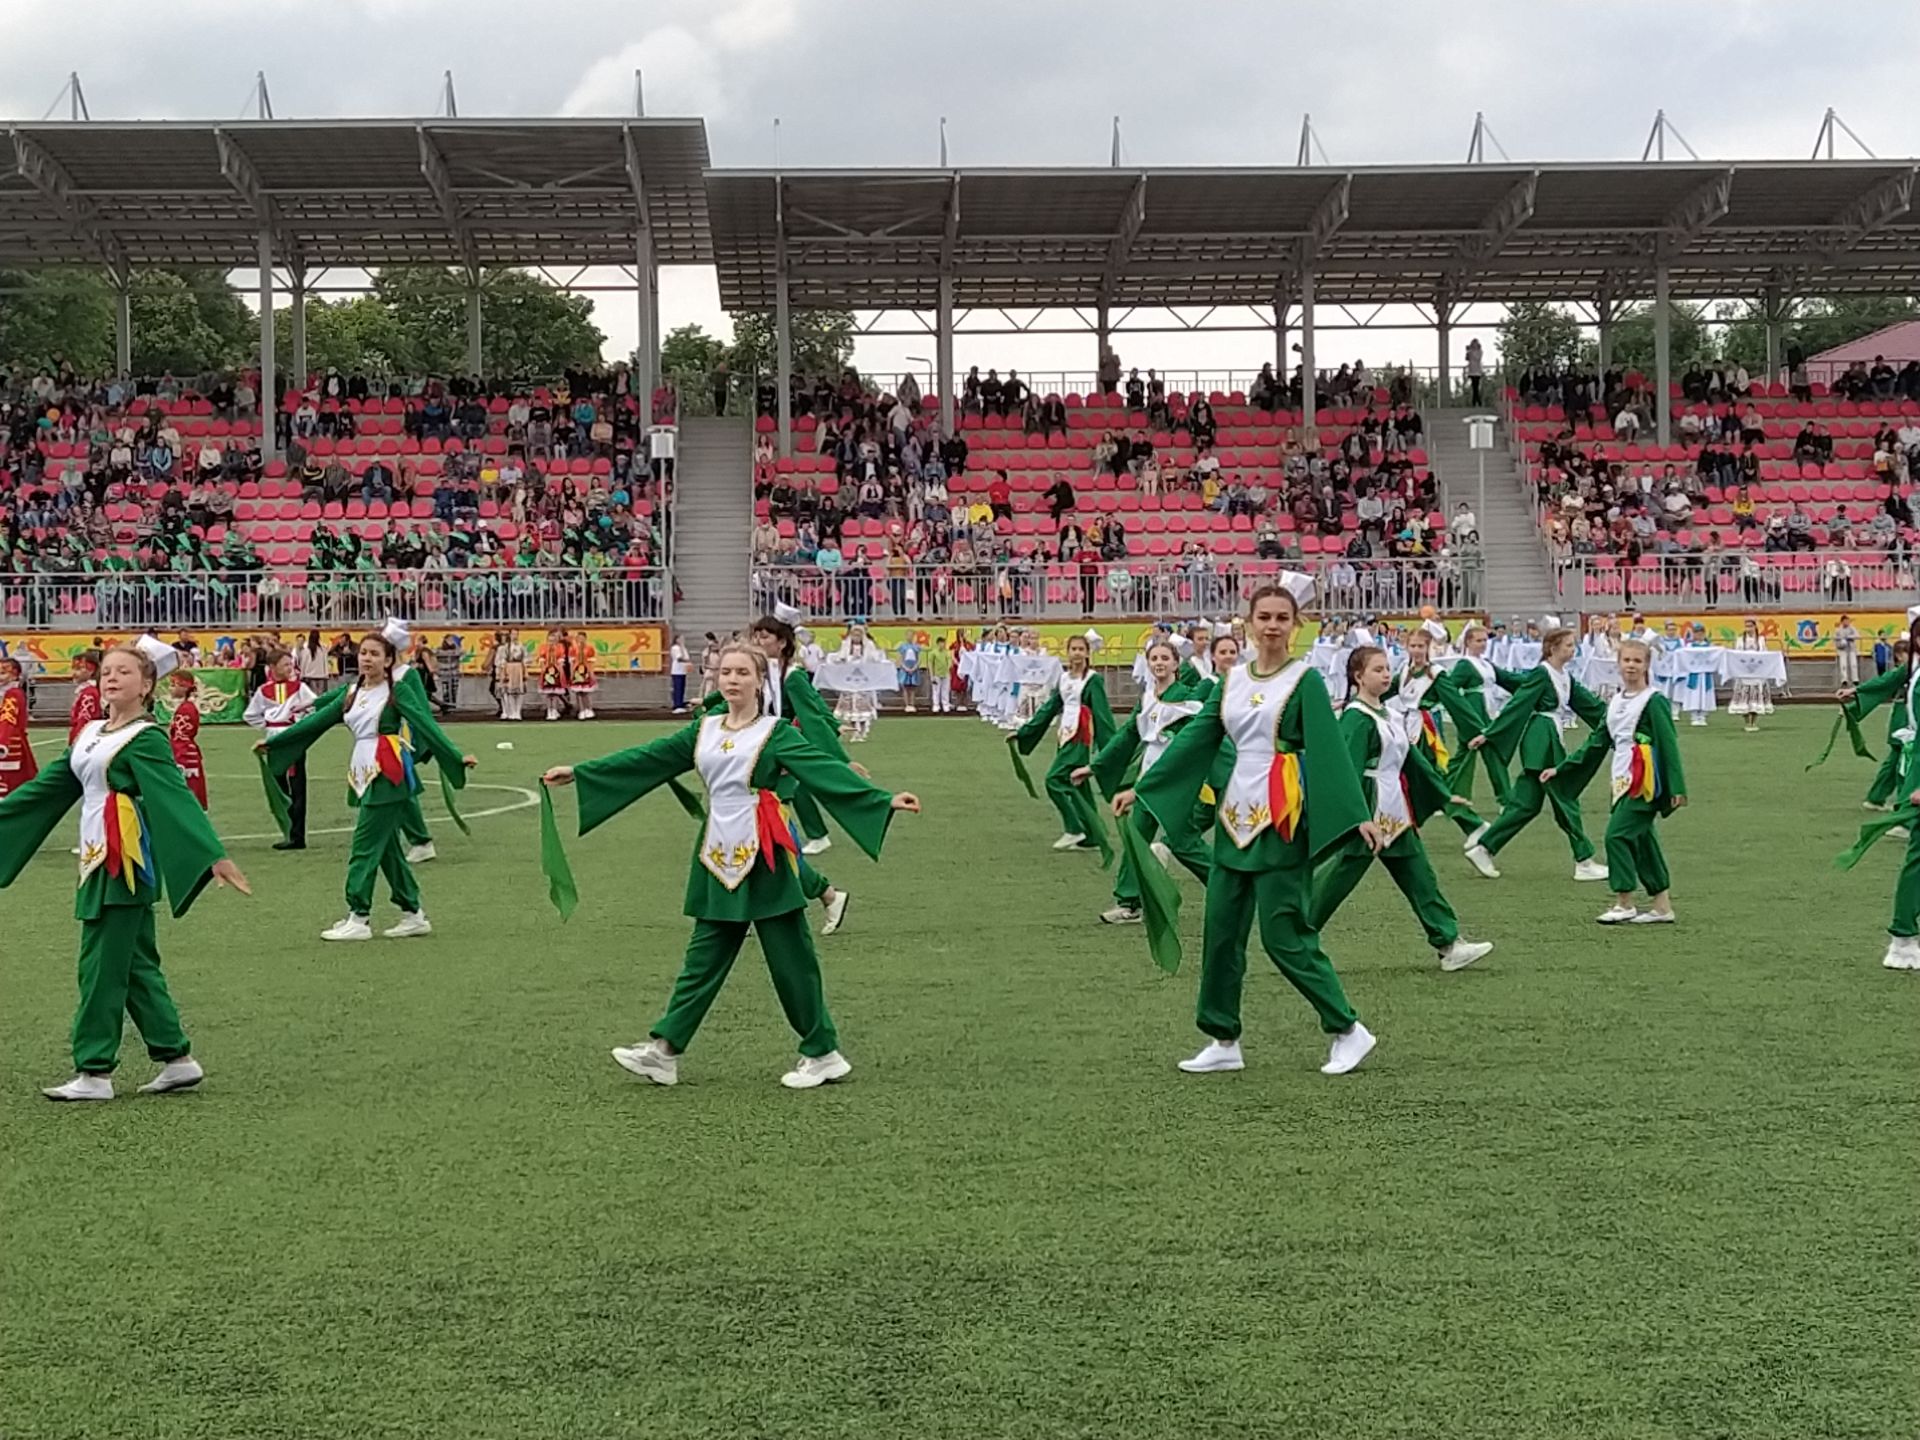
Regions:
M 574 785 L 580 793 L 580 833 L 597 829 L 639 797 L 693 770 L 701 724 L 693 722 L 647 745 L 574 766 Z M 772 789 L 778 795 L 783 776 L 812 791 L 854 845 L 876 860 L 879 858 L 887 826 L 893 820 L 893 795 L 856 776 L 845 760 L 822 755 L 793 726 L 774 726 L 755 762 L 751 783 L 755 789 Z M 693 837 L 684 906 L 687 916 L 745 922 L 806 908 L 801 872 L 791 856 L 774 854 L 770 856 L 772 864 L 766 864 L 768 856 L 762 854 L 747 879 L 730 891 L 699 860 L 705 835 L 703 828 Z

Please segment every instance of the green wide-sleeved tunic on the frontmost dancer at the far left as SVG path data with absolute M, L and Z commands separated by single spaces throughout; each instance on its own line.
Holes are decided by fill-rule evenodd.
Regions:
M 0 887 L 19 879 L 27 860 L 79 803 L 81 781 L 73 774 L 71 755 L 71 749 L 61 751 L 38 776 L 0 799 Z M 106 866 L 100 866 L 81 881 L 75 918 L 100 920 L 109 908 L 157 904 L 161 887 L 173 914 L 184 916 L 227 851 L 173 762 L 167 728 L 150 724 L 127 741 L 108 766 L 108 783 L 140 806 L 154 881 L 136 877 L 129 889 L 127 881 L 108 876 Z

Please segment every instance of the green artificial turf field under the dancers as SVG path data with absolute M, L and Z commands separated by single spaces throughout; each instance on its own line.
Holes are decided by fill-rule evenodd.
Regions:
M 607 1056 L 687 935 L 666 795 L 570 839 L 580 914 L 547 906 L 511 806 L 660 728 L 457 726 L 497 789 L 436 826 L 434 937 L 346 947 L 346 833 L 271 852 L 250 737 L 209 732 L 255 899 L 161 920 L 200 1092 L 132 1096 L 129 1033 L 123 1098 L 44 1102 L 65 833 L 0 897 L 0 1436 L 1912 1436 L 1920 975 L 1880 968 L 1897 847 L 1830 868 L 1870 766 L 1801 772 L 1828 718 L 1680 732 L 1678 927 L 1596 927 L 1548 820 L 1498 883 L 1430 828 L 1500 948 L 1440 975 L 1371 876 L 1327 931 L 1380 1035 L 1340 1081 L 1260 958 L 1248 1069 L 1175 1073 L 1192 883 L 1167 979 L 998 735 L 885 718 L 856 756 L 927 812 L 822 856 L 856 1069 L 804 1094 L 753 947 L 678 1089 Z M 342 772 L 330 737 L 317 828 Z

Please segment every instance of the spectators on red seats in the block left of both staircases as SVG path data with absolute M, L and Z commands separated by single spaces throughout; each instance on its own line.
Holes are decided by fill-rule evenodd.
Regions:
M 662 612 L 670 392 L 643 424 L 624 367 L 541 386 L 328 371 L 282 397 L 284 459 L 263 463 L 255 380 L 0 372 L 6 616 L 202 624 L 298 599 L 330 620 L 428 595 Z

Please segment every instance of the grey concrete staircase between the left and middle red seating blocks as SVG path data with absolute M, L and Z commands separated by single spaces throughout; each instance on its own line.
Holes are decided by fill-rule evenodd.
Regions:
M 674 488 L 674 630 L 699 637 L 745 630 L 747 549 L 753 540 L 753 422 L 682 419 Z

